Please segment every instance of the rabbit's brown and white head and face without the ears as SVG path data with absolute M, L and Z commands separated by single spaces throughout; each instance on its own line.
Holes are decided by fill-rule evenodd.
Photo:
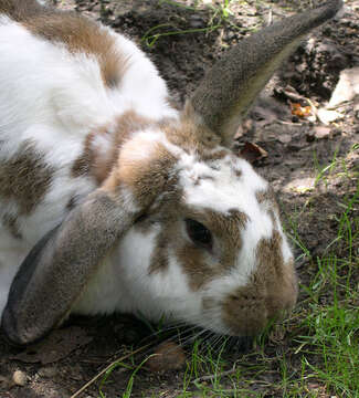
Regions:
M 123 146 L 105 186 L 146 209 L 110 259 L 131 311 L 253 335 L 295 304 L 274 193 L 211 130 L 192 119 L 145 129 Z

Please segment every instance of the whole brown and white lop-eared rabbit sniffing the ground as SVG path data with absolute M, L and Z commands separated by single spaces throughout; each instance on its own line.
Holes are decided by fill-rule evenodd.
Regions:
M 281 63 L 340 1 L 242 40 L 173 107 L 126 36 L 0 0 L 0 313 L 33 343 L 73 313 L 252 336 L 295 305 L 268 182 L 231 147 Z

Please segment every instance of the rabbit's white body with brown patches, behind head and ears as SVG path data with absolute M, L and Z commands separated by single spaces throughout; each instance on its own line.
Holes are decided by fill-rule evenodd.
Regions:
M 131 41 L 75 13 L 21 20 L 11 2 L 0 1 L 0 314 L 33 244 L 97 186 L 88 136 L 126 112 L 176 116 Z

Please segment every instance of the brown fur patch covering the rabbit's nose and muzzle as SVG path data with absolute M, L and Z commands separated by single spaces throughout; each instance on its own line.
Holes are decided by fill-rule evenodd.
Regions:
M 291 310 L 297 297 L 294 266 L 285 264 L 282 237 L 274 231 L 271 239 L 261 239 L 256 249 L 257 269 L 251 282 L 232 292 L 223 302 L 223 321 L 239 335 L 261 332 L 270 320 Z

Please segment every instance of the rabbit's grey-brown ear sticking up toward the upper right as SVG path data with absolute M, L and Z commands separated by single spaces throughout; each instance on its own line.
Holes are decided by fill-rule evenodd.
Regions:
M 242 40 L 208 72 L 187 102 L 184 114 L 231 146 L 241 119 L 282 61 L 305 34 L 332 18 L 340 7 L 341 0 L 327 1 Z

